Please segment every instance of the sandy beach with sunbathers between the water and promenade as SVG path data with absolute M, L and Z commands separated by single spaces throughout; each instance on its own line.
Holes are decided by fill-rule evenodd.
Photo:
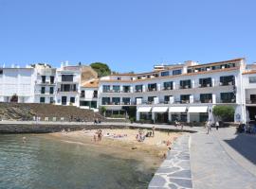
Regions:
M 113 154 L 119 150 L 125 149 L 129 153 L 143 152 L 149 156 L 155 156 L 159 160 L 164 159 L 164 154 L 172 147 L 174 140 L 182 132 L 164 132 L 155 130 L 155 136 L 145 137 L 143 142 L 137 141 L 138 129 L 101 129 L 101 141 L 94 139 L 98 130 L 79 130 L 71 132 L 51 133 L 51 136 L 57 137 L 67 143 L 80 143 L 81 145 L 93 145 L 103 147 L 105 150 L 111 150 Z M 143 129 L 145 134 L 151 129 Z M 115 150 L 114 150 L 115 149 Z M 129 153 L 125 153 L 129 158 Z M 134 155 L 134 154 L 133 154 Z

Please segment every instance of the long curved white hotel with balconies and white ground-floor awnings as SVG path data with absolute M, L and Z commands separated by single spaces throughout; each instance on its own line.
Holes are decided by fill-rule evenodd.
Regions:
M 101 77 L 99 105 L 109 112 L 125 106 L 137 107 L 137 121 L 149 119 L 166 123 L 213 119 L 215 105 L 231 105 L 235 121 L 244 121 L 244 59 L 206 64 L 159 65 L 150 73 Z

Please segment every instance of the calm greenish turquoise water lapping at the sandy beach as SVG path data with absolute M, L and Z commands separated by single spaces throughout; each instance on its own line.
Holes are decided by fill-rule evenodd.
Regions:
M 23 136 L 0 135 L 0 188 L 147 188 L 155 171 L 93 146 Z

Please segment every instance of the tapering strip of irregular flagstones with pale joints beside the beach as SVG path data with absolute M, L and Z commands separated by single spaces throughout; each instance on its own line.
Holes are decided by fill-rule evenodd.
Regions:
M 149 189 L 191 189 L 189 135 L 183 135 L 174 142 L 166 160 L 161 164 L 149 184 Z

